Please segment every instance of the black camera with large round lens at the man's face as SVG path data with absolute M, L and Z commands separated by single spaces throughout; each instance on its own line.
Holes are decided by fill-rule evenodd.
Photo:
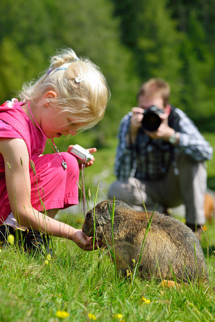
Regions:
M 160 113 L 163 113 L 163 110 L 154 105 L 146 109 L 142 118 L 143 129 L 149 132 L 156 131 L 161 125 Z

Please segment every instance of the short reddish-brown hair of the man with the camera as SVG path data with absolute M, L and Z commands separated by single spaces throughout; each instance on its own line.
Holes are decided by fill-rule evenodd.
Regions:
M 140 96 L 147 98 L 160 96 L 163 99 L 163 105 L 166 106 L 169 103 L 170 85 L 161 79 L 152 78 L 141 85 L 137 93 L 137 100 Z

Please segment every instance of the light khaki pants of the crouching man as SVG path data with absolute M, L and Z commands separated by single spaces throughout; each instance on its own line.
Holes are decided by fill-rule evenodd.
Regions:
M 204 194 L 207 187 L 205 165 L 192 161 L 182 153 L 178 153 L 176 162 L 179 175 L 174 175 L 170 167 L 167 175 L 160 180 L 138 180 L 133 177 L 127 181 L 118 180 L 110 186 L 108 197 L 112 199 L 115 196 L 115 199 L 122 200 L 137 210 L 144 209 L 142 199 L 147 210 L 154 210 L 158 203 L 158 212 L 184 204 L 186 222 L 202 225 L 205 223 Z

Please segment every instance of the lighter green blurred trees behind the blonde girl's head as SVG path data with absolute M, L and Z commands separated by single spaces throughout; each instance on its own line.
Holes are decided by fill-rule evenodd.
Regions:
M 119 22 L 109 0 L 3 0 L 0 4 L 0 99 L 47 67 L 47 58 L 67 46 L 89 57 L 105 75 L 112 96 L 96 133 L 115 135 L 135 103 L 140 84 L 131 51 L 120 42 Z M 92 131 L 91 131 L 92 133 Z M 101 136 L 102 137 L 102 134 Z

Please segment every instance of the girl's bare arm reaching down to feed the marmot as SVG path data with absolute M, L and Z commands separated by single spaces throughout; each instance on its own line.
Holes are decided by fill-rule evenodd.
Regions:
M 32 207 L 29 155 L 24 140 L 1 138 L 0 153 L 5 161 L 5 178 L 10 207 L 17 222 L 52 236 L 68 238 L 80 248 L 92 250 L 92 242 L 81 230 L 48 217 Z

